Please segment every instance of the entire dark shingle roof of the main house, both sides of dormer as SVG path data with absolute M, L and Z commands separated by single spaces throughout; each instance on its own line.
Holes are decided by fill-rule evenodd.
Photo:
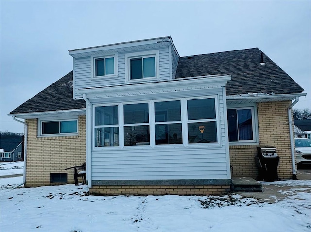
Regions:
M 176 77 L 205 75 L 231 75 L 227 83 L 227 95 L 247 93 L 291 94 L 303 89 L 263 53 L 265 65 L 260 65 L 261 50 L 258 48 L 217 52 L 180 57 Z M 69 109 L 85 109 L 82 99 L 72 99 L 73 72 L 18 106 L 10 114 L 45 112 Z

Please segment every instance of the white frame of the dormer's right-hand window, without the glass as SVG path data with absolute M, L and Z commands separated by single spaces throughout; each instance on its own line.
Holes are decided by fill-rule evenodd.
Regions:
M 131 79 L 131 70 L 130 70 L 130 60 L 135 58 L 149 58 L 155 57 L 155 77 L 143 77 L 141 79 Z M 152 50 L 152 51 L 142 51 L 142 52 L 134 52 L 134 53 L 127 53 L 125 54 L 125 78 L 126 82 L 146 82 L 152 80 L 159 80 L 159 50 Z

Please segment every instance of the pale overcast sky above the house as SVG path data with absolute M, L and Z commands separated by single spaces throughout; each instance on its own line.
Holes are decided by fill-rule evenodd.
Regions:
M 3 1 L 1 131 L 23 132 L 12 110 L 72 70 L 68 50 L 172 36 L 180 56 L 258 47 L 311 108 L 311 2 Z

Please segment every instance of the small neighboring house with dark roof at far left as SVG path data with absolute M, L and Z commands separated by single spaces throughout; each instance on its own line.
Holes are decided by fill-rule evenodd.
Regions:
M 15 162 L 24 160 L 22 138 L 2 138 L 0 140 L 1 162 Z

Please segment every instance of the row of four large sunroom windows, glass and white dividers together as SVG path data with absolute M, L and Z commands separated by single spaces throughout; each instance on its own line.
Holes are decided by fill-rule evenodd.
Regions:
M 218 146 L 216 102 L 206 97 L 95 106 L 94 147 Z

